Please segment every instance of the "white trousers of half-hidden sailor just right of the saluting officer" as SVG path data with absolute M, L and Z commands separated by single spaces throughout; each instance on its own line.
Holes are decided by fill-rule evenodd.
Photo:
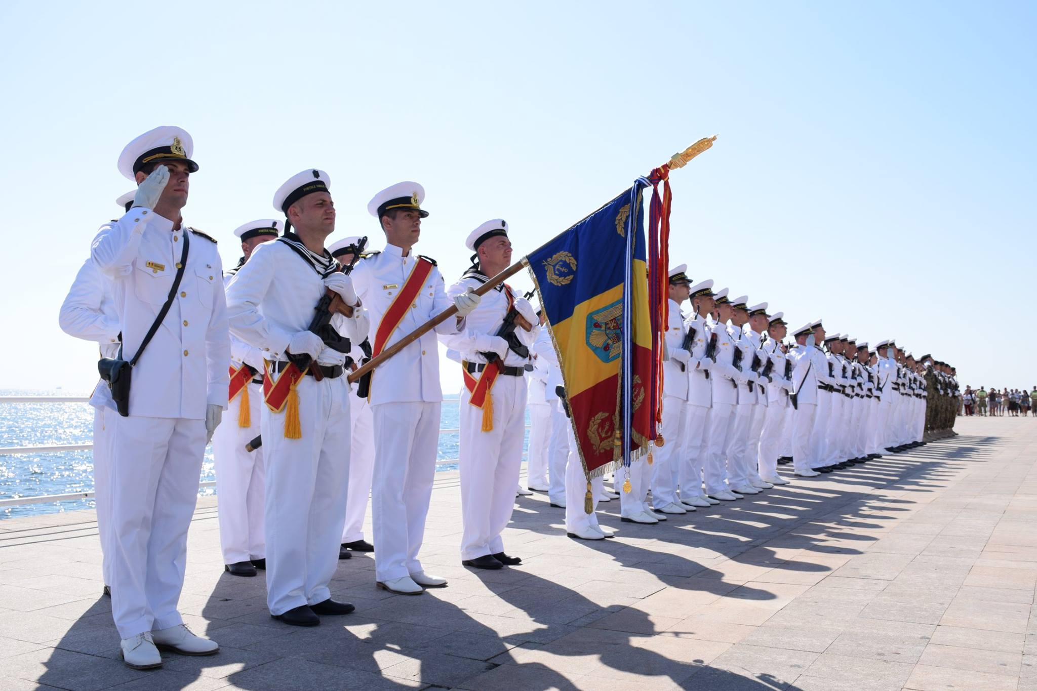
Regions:
M 262 409 L 262 384 L 245 384 L 249 392 L 249 427 L 240 427 L 243 394 L 227 406 L 223 422 L 213 434 L 213 458 L 216 461 L 216 495 L 219 500 L 220 548 L 224 564 L 237 564 L 267 556 L 263 537 L 263 513 L 267 467 L 260 447 L 245 451 L 245 444 L 259 434 Z M 263 437 L 267 441 L 267 437 Z

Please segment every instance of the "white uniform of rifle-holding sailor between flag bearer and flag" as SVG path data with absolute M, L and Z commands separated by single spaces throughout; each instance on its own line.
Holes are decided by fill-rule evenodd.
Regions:
M 450 286 L 447 296 L 456 297 L 486 282 L 482 273 L 470 271 Z M 448 347 L 457 350 L 464 362 L 485 364 L 483 352 L 493 350 L 497 333 L 508 313 L 511 291 L 514 307 L 527 321 L 536 324 L 536 314 L 529 301 L 514 289 L 504 284 L 486 292 L 479 305 L 466 317 L 465 330 L 441 336 Z M 536 328 L 534 326 L 534 328 Z M 526 347 L 533 344 L 537 334 L 515 327 L 515 336 Z M 458 440 L 458 469 L 460 472 L 461 544 L 460 558 L 476 559 L 480 556 L 504 551 L 501 532 L 511 520 L 514 509 L 515 486 L 522 469 L 523 443 L 526 440 L 526 372 L 528 357 L 508 350 L 503 366 L 515 368 L 517 376 L 503 372 L 497 375 L 488 393 L 486 405 L 493 407 L 493 430 L 482 431 L 483 409 L 470 403 L 468 387 L 460 393 L 460 435 Z M 481 372 L 472 373 L 478 379 Z

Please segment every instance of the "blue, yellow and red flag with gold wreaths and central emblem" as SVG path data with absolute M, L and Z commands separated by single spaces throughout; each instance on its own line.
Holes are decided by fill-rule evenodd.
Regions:
M 526 257 L 551 324 L 588 480 L 637 458 L 654 439 L 646 184 L 639 179 Z

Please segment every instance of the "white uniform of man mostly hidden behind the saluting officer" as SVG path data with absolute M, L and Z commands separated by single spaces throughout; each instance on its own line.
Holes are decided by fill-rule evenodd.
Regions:
M 115 289 L 111 280 L 87 259 L 73 281 L 58 313 L 58 325 L 68 336 L 94 341 L 102 357 L 119 352 L 119 315 L 115 308 Z M 107 386 L 99 381 L 94 388 Z M 91 404 L 93 401 L 91 400 Z M 101 572 L 105 583 L 112 583 L 111 455 L 118 413 L 107 406 L 93 406 L 93 506 L 97 512 L 97 537 L 101 539 Z

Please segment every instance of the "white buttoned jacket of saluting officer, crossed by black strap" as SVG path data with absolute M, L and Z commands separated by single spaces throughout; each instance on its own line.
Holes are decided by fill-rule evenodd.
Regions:
M 185 232 L 185 226 L 173 230 L 169 219 L 138 207 L 103 225 L 93 238 L 90 258 L 113 281 L 127 361 L 169 295 Z M 134 368 L 130 414 L 203 420 L 206 404 L 227 407 L 230 339 L 222 279 L 216 242 L 192 232 L 179 290 Z

